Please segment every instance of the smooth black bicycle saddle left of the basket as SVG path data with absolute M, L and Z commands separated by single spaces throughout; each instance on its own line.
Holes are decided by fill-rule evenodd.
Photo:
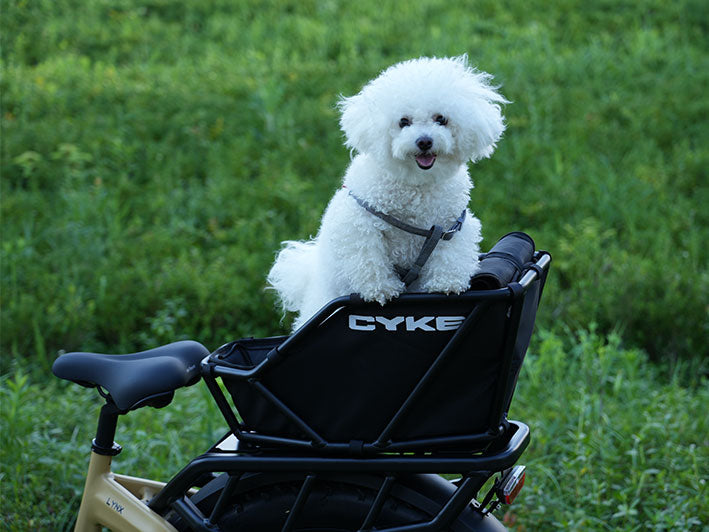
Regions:
M 182 341 L 128 355 L 66 353 L 54 361 L 52 373 L 88 388 L 108 392 L 119 410 L 165 406 L 159 398 L 200 379 L 200 361 L 209 355 L 198 342 Z M 158 401 L 151 402 L 157 396 Z M 169 403 L 172 396 L 166 397 Z

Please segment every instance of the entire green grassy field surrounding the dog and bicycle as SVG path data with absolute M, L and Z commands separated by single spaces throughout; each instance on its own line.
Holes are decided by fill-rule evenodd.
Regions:
M 54 381 L 56 354 L 287 330 L 265 274 L 339 186 L 338 95 L 465 52 L 512 102 L 471 168 L 484 247 L 523 230 L 554 257 L 512 412 L 534 431 L 530 483 L 508 522 L 709 526 L 708 11 L 3 0 L 2 522 L 62 530 L 78 504 L 98 403 Z M 125 421 L 121 469 L 158 478 L 223 430 L 201 387 Z

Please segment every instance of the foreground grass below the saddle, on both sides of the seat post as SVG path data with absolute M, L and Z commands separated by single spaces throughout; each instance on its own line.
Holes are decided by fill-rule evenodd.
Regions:
M 103 400 L 95 390 L 17 371 L 2 377 L 0 515 L 3 530 L 70 531 L 81 502 Z M 120 419 L 125 449 L 114 471 L 169 480 L 226 432 L 204 384 L 181 390 L 164 410 Z

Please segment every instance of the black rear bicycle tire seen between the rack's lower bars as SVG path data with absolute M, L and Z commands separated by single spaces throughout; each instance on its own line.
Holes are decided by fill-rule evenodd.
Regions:
M 203 488 L 194 502 L 209 515 L 226 475 Z M 294 532 L 359 530 L 377 496 L 379 475 L 321 475 L 301 511 L 291 523 Z M 436 482 L 437 481 L 437 482 Z M 221 532 L 276 532 L 282 530 L 303 484 L 302 475 L 257 474 L 244 479 L 217 519 Z M 430 520 L 454 488 L 437 475 L 411 475 L 395 482 L 372 527 L 411 525 Z M 204 497 L 204 498 L 202 498 Z M 201 500 L 200 500 L 201 499 Z M 174 523 L 176 524 L 176 523 Z M 178 526 L 179 528 L 179 526 Z M 499 531 L 504 527 L 492 516 L 482 517 L 470 507 L 451 524 L 451 532 Z

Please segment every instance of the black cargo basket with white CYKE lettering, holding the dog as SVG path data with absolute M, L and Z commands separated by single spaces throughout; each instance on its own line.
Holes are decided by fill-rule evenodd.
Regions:
M 341 297 L 291 336 L 220 347 L 203 375 L 247 444 L 484 450 L 507 428 L 549 263 L 531 238 L 510 233 L 463 294 L 404 294 L 385 306 Z

